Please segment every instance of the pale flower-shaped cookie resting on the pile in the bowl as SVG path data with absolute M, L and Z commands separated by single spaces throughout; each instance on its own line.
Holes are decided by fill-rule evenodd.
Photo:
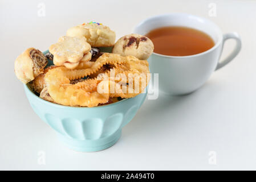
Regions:
M 55 65 L 64 65 L 74 69 L 80 61 L 91 60 L 91 46 L 84 37 L 62 36 L 58 43 L 52 44 L 49 52 L 53 55 Z

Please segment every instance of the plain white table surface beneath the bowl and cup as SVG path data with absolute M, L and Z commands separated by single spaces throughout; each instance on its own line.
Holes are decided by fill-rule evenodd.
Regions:
M 256 169 L 256 1 L 0 1 L 0 169 Z M 46 16 L 38 16 L 44 3 Z M 209 16 L 209 4 L 216 16 Z M 100 152 L 75 152 L 32 111 L 14 60 L 26 48 L 42 51 L 76 24 L 107 24 L 117 38 L 141 20 L 163 13 L 209 18 L 237 31 L 242 51 L 188 96 L 146 100 L 119 141 Z M 224 56 L 234 46 L 225 45 Z M 40 151 L 46 163 L 39 164 Z M 214 151 L 216 164 L 209 163 Z

